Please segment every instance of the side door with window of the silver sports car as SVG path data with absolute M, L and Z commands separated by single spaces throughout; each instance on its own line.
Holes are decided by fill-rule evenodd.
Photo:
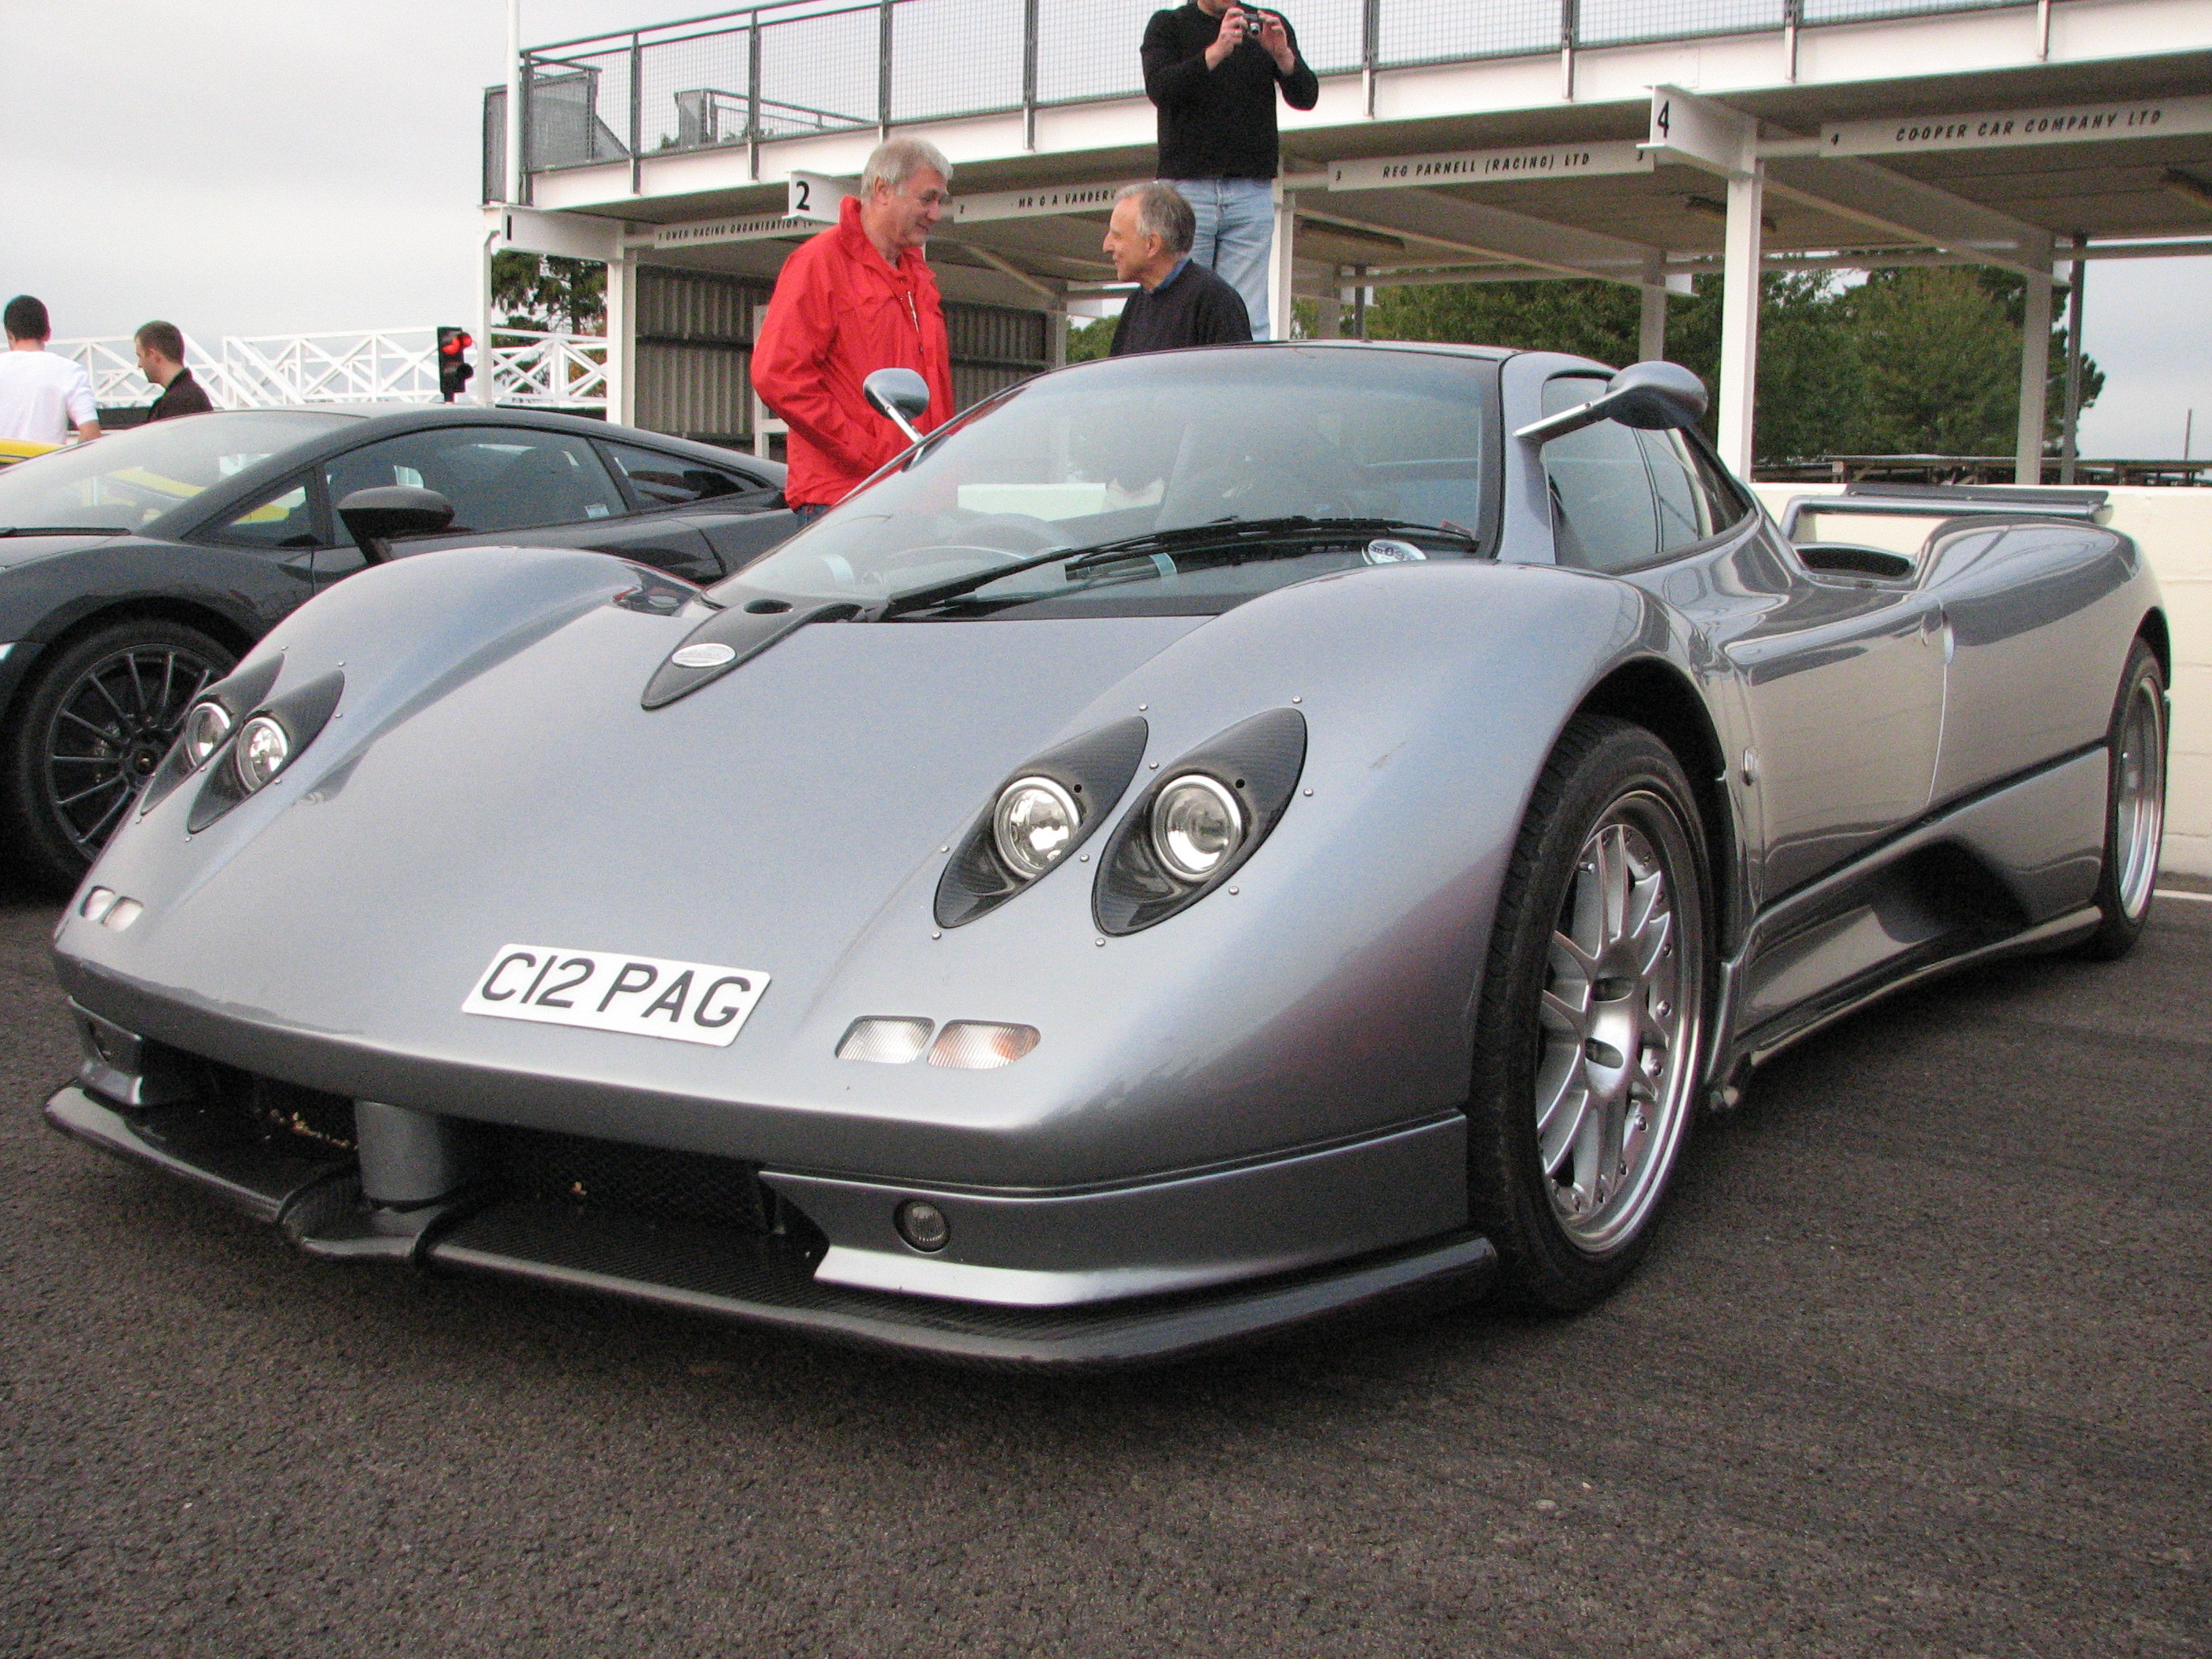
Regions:
M 1555 414 L 1604 380 L 1546 385 Z M 1942 739 L 1940 613 L 1905 584 L 1805 571 L 1750 495 L 1683 434 L 1601 420 L 1544 445 L 1562 564 L 1610 571 L 1719 653 L 1750 743 L 1732 763 L 1783 894 L 1927 810 Z

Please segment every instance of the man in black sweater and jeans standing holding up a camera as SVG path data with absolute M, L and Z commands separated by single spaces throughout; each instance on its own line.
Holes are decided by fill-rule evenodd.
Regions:
M 1144 91 L 1159 108 L 1159 177 L 1197 215 L 1192 259 L 1245 303 L 1267 338 L 1267 250 L 1281 166 L 1274 95 L 1314 108 L 1321 82 L 1279 11 L 1241 0 L 1188 0 L 1144 29 Z

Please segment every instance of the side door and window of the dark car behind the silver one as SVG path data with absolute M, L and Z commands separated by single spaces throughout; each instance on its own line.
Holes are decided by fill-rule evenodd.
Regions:
M 352 491 L 378 484 L 434 489 L 453 502 L 453 524 L 407 538 L 396 555 L 484 542 L 584 546 L 615 553 L 688 582 L 721 577 L 706 535 L 679 518 L 637 515 L 588 438 L 540 427 L 422 427 L 347 449 L 323 462 L 323 489 L 336 509 Z M 343 520 L 316 557 L 327 586 L 363 566 Z

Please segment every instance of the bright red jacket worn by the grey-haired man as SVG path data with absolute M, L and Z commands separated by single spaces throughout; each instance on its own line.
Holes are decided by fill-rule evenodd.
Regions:
M 752 387 L 792 429 L 785 500 L 841 502 L 907 447 L 860 396 L 860 380 L 876 369 L 920 369 L 929 409 L 914 425 L 945 425 L 953 414 L 951 361 L 929 261 L 907 248 L 896 270 L 885 263 L 860 230 L 858 197 L 845 197 L 838 221 L 783 261 L 752 347 Z

